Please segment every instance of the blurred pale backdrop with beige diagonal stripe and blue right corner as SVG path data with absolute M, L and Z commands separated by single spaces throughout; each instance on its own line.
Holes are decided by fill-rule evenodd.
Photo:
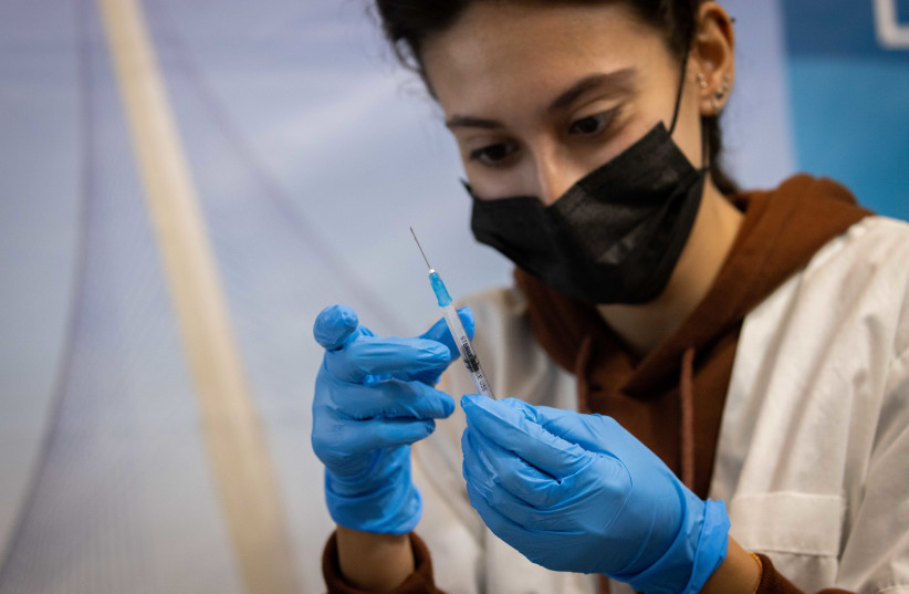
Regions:
M 909 1 L 723 3 L 741 185 L 909 218 Z M 0 594 L 322 592 L 312 322 L 509 283 L 459 176 L 365 0 L 0 2 Z

